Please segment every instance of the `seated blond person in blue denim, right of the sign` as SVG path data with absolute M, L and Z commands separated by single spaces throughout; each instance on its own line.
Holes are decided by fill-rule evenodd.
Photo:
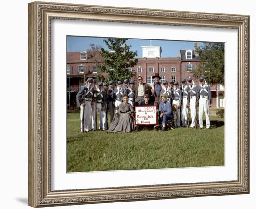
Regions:
M 169 101 L 167 101 L 165 94 L 161 95 L 161 102 L 159 104 L 158 112 L 162 120 L 162 131 L 165 131 L 166 121 L 174 118 L 171 104 Z

